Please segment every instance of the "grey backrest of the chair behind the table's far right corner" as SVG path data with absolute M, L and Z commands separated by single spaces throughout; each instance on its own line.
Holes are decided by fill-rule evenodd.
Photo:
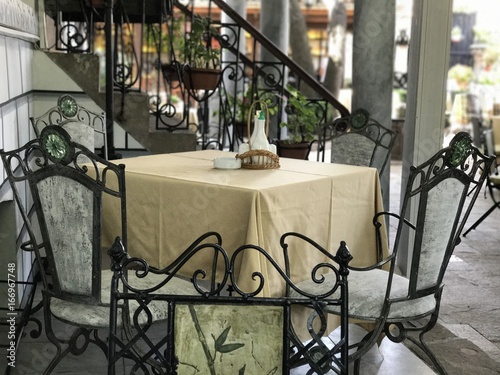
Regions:
M 331 142 L 331 162 L 375 167 L 382 173 L 391 155 L 396 133 L 372 119 L 364 109 L 341 117 L 324 129 Z

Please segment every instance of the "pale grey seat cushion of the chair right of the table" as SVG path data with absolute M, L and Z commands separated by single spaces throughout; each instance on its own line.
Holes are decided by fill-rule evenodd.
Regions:
M 329 285 L 335 282 L 333 274 L 325 274 L 325 282 L 316 284 L 306 280 L 297 286 L 309 293 L 319 294 L 331 289 Z M 389 272 L 375 269 L 370 271 L 350 271 L 347 276 L 349 290 L 349 316 L 361 320 L 374 321 L 380 317 L 384 305 Z M 409 280 L 406 277 L 394 275 L 391 298 L 405 298 L 408 294 Z M 338 293 L 338 292 L 337 292 Z M 299 297 L 295 291 L 291 297 Z M 389 311 L 388 321 L 404 320 L 408 317 L 425 316 L 436 307 L 433 295 L 418 299 L 394 302 Z M 340 306 L 328 306 L 329 312 L 340 314 Z

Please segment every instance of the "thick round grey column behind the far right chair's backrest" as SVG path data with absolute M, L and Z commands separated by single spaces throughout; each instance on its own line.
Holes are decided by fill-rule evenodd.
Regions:
M 352 110 L 365 108 L 392 127 L 395 0 L 356 0 L 354 4 Z M 389 208 L 390 165 L 380 176 L 384 207 Z

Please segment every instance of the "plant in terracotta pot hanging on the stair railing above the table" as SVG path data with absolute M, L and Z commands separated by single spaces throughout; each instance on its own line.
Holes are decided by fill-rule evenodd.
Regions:
M 188 90 L 214 90 L 221 78 L 219 31 L 207 17 L 195 16 L 184 43 L 183 81 Z

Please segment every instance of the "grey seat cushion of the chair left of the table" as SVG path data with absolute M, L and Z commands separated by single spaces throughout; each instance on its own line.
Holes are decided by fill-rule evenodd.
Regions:
M 101 301 L 103 305 L 83 304 L 77 302 L 66 301 L 62 299 L 52 298 L 50 302 L 50 310 L 56 318 L 70 324 L 85 326 L 87 328 L 106 328 L 109 326 L 109 303 L 111 296 L 111 277 L 112 272 L 109 270 L 101 273 Z M 146 289 L 159 284 L 165 276 L 149 274 L 146 278 L 134 277 L 133 273 L 129 274 L 129 282 L 136 288 Z M 158 294 L 174 294 L 174 295 L 198 295 L 193 284 L 181 278 L 173 278 L 166 285 L 160 288 Z M 130 318 L 136 311 L 139 304 L 136 301 L 130 301 Z M 158 321 L 167 318 L 168 303 L 166 301 L 153 301 L 148 305 L 152 320 Z M 139 324 L 147 321 L 145 313 L 139 315 Z M 122 326 L 121 314 L 118 314 L 118 326 Z

